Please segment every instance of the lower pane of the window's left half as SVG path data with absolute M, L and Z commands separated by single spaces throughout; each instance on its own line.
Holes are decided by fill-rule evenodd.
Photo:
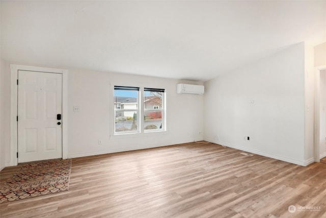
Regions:
M 137 131 L 137 111 L 116 111 L 116 132 Z

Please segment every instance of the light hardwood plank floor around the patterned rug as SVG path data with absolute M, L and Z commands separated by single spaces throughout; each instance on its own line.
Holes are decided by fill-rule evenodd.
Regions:
M 212 143 L 75 158 L 68 191 L 1 204 L 1 217 L 326 217 L 326 164 Z M 3 184 L 16 167 L 1 173 Z M 316 206 L 320 211 L 288 207 Z

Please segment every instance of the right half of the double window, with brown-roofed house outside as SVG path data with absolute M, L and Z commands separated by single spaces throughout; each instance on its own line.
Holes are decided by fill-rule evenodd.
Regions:
M 144 132 L 165 130 L 165 89 L 144 88 Z

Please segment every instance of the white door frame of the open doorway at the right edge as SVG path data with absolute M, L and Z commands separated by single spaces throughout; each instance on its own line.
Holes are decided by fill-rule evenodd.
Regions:
M 315 162 L 320 162 L 320 154 L 319 154 L 319 131 L 320 131 L 320 71 L 326 70 L 325 66 L 317 66 L 315 67 L 315 96 L 314 96 L 314 159 Z

